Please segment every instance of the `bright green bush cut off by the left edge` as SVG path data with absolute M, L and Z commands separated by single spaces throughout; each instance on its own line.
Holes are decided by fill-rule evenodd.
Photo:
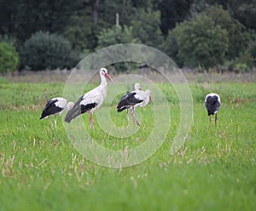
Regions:
M 0 72 L 15 71 L 19 61 L 19 54 L 12 44 L 0 43 Z

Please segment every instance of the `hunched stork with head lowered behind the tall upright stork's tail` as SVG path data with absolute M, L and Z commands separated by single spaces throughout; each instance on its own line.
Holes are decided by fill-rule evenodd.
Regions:
M 63 111 L 69 111 L 70 109 L 72 109 L 73 105 L 73 102 L 67 103 L 67 100 L 64 98 L 53 98 L 49 100 L 44 106 L 44 110 L 41 114 L 40 119 L 48 118 L 50 115 L 55 116 L 55 128 L 57 128 L 56 116 L 61 115 Z M 50 118 L 49 123 L 51 124 L 51 126 L 53 126 Z

